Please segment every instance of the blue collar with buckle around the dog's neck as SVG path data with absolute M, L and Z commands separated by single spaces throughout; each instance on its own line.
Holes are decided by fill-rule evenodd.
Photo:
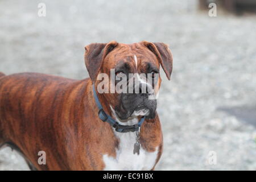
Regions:
M 101 119 L 101 121 L 108 122 L 112 127 L 114 127 L 115 131 L 117 131 L 117 132 L 127 133 L 127 132 L 139 131 L 139 127 L 141 127 L 142 123 L 145 120 L 144 116 L 141 118 L 141 120 L 136 125 L 131 125 L 131 126 L 120 125 L 117 121 L 115 121 L 115 119 L 113 119 L 110 115 L 106 114 L 105 111 L 103 110 L 101 102 L 100 102 L 100 100 L 98 100 L 98 96 L 95 91 L 94 83 L 93 83 L 93 96 L 94 96 L 94 100 L 99 109 L 98 117 Z

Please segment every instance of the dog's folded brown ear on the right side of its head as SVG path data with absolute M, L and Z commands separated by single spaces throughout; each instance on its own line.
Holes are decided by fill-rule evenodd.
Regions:
M 156 55 L 164 72 L 166 73 L 168 80 L 170 80 L 172 73 L 172 53 L 167 44 L 158 42 L 151 43 L 146 41 L 144 41 L 143 44 Z

